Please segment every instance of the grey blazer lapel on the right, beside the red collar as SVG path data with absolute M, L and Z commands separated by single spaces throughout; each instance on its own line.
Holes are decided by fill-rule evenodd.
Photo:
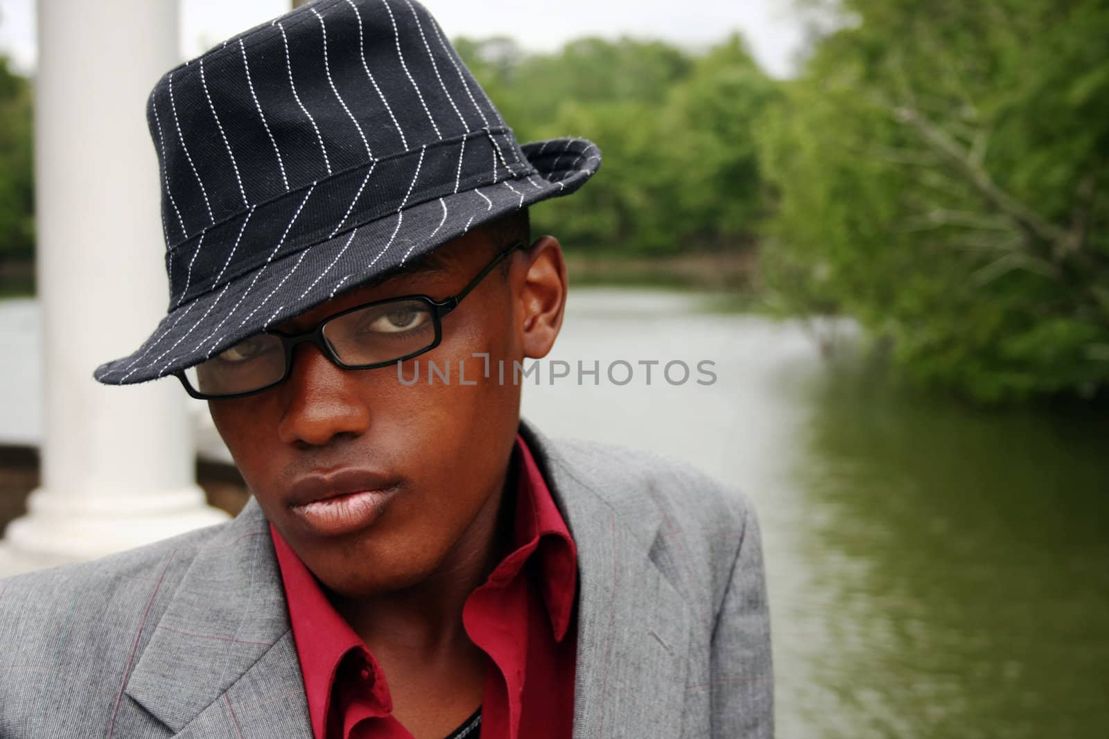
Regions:
M 574 738 L 680 736 L 690 613 L 650 556 L 659 511 L 621 509 L 525 421 L 521 433 L 578 547 Z

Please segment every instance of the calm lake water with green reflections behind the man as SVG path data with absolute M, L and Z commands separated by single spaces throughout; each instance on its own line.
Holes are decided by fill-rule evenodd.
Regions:
M 33 304 L 0 304 L 0 440 L 38 433 L 35 327 Z M 796 322 L 577 290 L 523 414 L 752 497 L 783 739 L 1109 737 L 1109 422 L 897 391 L 838 331 L 828 361 Z

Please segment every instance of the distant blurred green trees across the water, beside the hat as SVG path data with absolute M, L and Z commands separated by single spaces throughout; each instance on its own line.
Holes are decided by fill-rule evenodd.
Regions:
M 577 135 L 604 154 L 588 203 L 536 208 L 537 232 L 627 256 L 754 243 L 765 199 L 751 121 L 779 92 L 737 35 L 695 57 L 630 39 L 557 54 L 509 39 L 456 44 L 520 141 Z

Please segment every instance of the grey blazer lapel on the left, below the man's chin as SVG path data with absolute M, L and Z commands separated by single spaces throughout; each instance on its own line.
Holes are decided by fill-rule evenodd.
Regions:
M 179 737 L 311 739 L 281 573 L 253 497 L 196 553 L 125 692 Z

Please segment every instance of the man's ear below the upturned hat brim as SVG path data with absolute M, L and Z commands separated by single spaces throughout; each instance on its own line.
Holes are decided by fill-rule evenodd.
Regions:
M 546 357 L 554 346 L 566 310 L 567 276 L 562 246 L 542 236 L 523 253 L 513 278 L 519 306 L 520 347 L 529 359 Z

